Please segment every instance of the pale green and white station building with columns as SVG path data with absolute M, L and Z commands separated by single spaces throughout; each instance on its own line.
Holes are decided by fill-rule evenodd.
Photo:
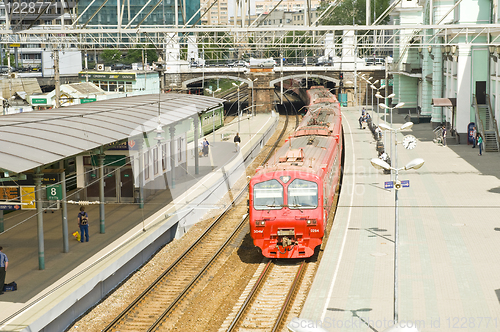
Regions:
M 498 2 L 486 0 L 409 0 L 393 12 L 395 24 L 498 24 Z M 485 139 L 486 151 L 498 151 L 500 116 L 500 42 L 494 30 L 401 30 L 388 71 L 394 77 L 393 104 L 417 110 L 433 128 L 446 124 L 451 136 L 467 142 L 471 126 Z M 418 41 L 427 47 L 411 47 Z M 455 135 L 458 134 L 458 135 Z

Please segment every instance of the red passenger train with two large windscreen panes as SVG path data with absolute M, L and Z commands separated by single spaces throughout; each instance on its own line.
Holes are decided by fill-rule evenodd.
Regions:
M 313 255 L 339 182 L 340 104 L 324 87 L 312 87 L 308 97 L 297 130 L 250 180 L 250 232 L 269 258 Z

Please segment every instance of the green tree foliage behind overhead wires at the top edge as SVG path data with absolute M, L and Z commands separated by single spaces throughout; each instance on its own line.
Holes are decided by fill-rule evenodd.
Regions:
M 332 1 L 322 1 L 319 10 L 323 12 Z M 389 0 L 371 0 L 371 19 L 373 10 L 377 19 L 389 6 Z M 380 24 L 389 22 L 386 17 Z M 323 18 L 321 25 L 366 25 L 366 0 L 344 0 L 329 15 Z

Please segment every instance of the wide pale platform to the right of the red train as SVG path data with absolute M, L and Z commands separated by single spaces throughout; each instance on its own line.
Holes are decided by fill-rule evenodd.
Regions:
M 342 190 L 298 322 L 306 328 L 301 331 L 384 331 L 394 322 L 396 196 L 384 187 L 391 175 L 370 163 L 377 157 L 376 141 L 370 130 L 359 128 L 360 110 L 342 111 Z M 377 114 L 371 115 L 377 122 Z M 399 128 L 404 116 L 393 116 L 392 127 Z M 407 134 L 418 139 L 414 149 L 401 144 Z M 400 326 L 420 332 L 499 331 L 500 154 L 479 156 L 463 138 L 462 144 L 451 137 L 449 145 L 437 144 L 429 123 L 397 135 L 399 168 L 425 160 L 418 170 L 399 172 L 400 180 L 409 180 L 398 192 Z M 389 146 L 387 140 L 386 151 Z

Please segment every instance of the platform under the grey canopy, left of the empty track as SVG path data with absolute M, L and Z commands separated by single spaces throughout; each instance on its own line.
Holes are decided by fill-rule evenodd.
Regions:
M 244 169 L 274 133 L 274 113 L 237 118 L 206 136 L 210 154 L 188 157 L 186 174 L 177 174 L 175 186 L 138 204 L 106 204 L 105 233 L 99 233 L 99 206 L 89 205 L 90 241 L 71 235 L 78 230 L 78 205 L 68 204 L 69 252 L 63 252 L 62 214 L 43 215 L 45 269 L 38 269 L 35 212 L 5 215 L 0 245 L 9 258 L 6 283 L 18 290 L 0 295 L 0 331 L 63 331 L 161 246 L 180 237 L 231 190 Z M 235 152 L 233 138 L 241 137 Z M 190 143 L 188 149 L 193 149 Z M 94 221 L 93 221 L 94 220 Z

